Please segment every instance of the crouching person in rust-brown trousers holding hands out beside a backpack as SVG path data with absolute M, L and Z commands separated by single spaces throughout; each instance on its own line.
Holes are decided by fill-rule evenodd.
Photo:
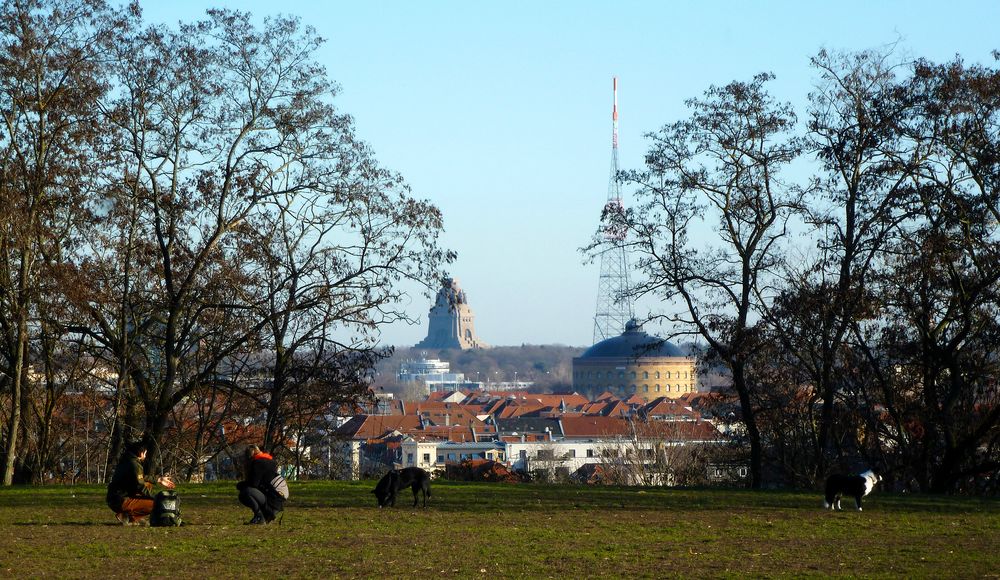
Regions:
M 147 522 L 149 514 L 153 513 L 153 483 L 146 481 L 142 471 L 145 460 L 145 443 L 135 441 L 126 444 L 108 483 L 105 501 L 115 512 L 115 518 L 124 525 Z M 159 477 L 156 482 L 167 489 L 174 488 L 174 482 L 169 477 Z

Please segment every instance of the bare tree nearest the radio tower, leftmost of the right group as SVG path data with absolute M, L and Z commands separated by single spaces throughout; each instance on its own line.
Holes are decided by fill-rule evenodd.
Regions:
M 644 279 L 634 295 L 677 301 L 661 318 L 678 333 L 708 342 L 708 356 L 732 374 L 750 444 L 751 485 L 761 485 L 762 442 L 747 367 L 755 325 L 767 308 L 768 276 L 781 264 L 780 241 L 800 204 L 799 189 L 780 179 L 800 152 L 795 115 L 765 84 L 772 76 L 712 87 L 688 101 L 689 119 L 650 134 L 646 171 L 628 178 L 639 206 L 619 217 Z M 696 245 L 692 230 L 711 228 L 716 243 Z

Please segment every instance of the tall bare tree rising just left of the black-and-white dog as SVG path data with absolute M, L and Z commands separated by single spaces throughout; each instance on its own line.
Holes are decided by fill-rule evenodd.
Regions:
M 831 457 L 843 459 L 834 406 L 844 381 L 852 330 L 871 317 L 871 269 L 909 211 L 911 175 L 923 153 L 910 147 L 901 123 L 911 107 L 896 78 L 892 52 L 812 59 L 819 72 L 810 94 L 808 146 L 822 164 L 817 193 L 803 208 L 819 232 L 818 255 L 804 256 L 788 277 L 780 321 L 772 321 L 815 387 L 821 405 L 812 436 L 814 477 Z M 792 362 L 792 361 L 789 361 Z

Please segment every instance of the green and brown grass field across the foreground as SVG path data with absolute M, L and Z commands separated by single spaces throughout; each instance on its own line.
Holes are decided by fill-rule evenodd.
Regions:
M 427 509 L 379 510 L 372 487 L 295 483 L 282 525 L 244 526 L 233 484 L 182 485 L 180 528 L 117 525 L 98 486 L 4 488 L 0 576 L 1000 574 L 996 499 L 876 491 L 833 513 L 817 493 L 434 482 Z

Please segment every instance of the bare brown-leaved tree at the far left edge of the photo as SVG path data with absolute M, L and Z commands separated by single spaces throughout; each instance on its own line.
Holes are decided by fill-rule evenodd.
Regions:
M 3 482 L 13 481 L 21 410 L 37 335 L 44 270 L 87 219 L 105 91 L 99 66 L 114 26 L 101 1 L 24 0 L 0 5 L 0 330 L 11 389 Z

